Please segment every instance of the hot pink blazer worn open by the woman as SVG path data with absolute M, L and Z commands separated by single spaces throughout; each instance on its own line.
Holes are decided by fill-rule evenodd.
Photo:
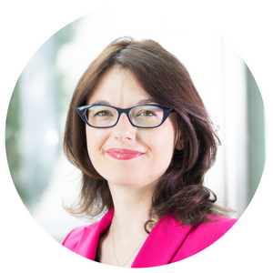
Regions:
M 75 253 L 95 260 L 99 237 L 110 226 L 114 208 L 94 224 L 76 227 L 65 238 L 63 246 Z M 190 257 L 221 238 L 237 219 L 209 216 L 214 222 L 197 227 L 181 227 L 173 217 L 162 217 L 140 248 L 132 268 L 167 265 Z

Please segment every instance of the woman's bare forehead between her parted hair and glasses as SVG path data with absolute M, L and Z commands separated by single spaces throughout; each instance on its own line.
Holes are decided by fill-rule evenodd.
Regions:
M 104 100 L 113 106 L 120 106 L 151 98 L 130 71 L 113 66 L 100 76 L 93 92 L 87 97 L 87 103 L 95 104 L 96 101 Z

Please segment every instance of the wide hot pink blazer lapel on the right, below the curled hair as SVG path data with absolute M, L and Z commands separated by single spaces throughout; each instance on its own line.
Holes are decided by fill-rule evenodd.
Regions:
M 181 247 L 192 226 L 181 226 L 181 222 L 166 215 L 152 229 L 139 250 L 132 268 L 150 268 L 167 265 Z

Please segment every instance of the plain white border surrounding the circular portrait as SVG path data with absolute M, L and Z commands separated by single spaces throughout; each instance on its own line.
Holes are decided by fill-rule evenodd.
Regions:
M 63 248 L 36 224 L 18 197 L 5 157 L 5 116 L 10 96 L 27 61 L 60 28 L 89 13 L 105 8 L 116 16 L 132 13 L 140 24 L 161 18 L 164 31 L 173 22 L 215 27 L 244 59 L 263 96 L 267 114 L 267 162 L 258 191 L 238 224 L 214 245 L 176 264 L 173 270 L 191 272 L 268 272 L 272 258 L 272 75 L 273 18 L 271 1 L 9 1 L 1 5 L 1 264 L 4 272 L 89 272 L 109 268 L 81 258 Z M 179 3 L 179 4 L 178 4 Z M 190 4 L 189 4 L 190 3 Z M 196 18 L 192 20 L 192 18 Z M 99 25 L 99 22 L 97 23 Z M 126 24 L 126 21 L 125 21 Z M 159 30 L 158 30 L 159 31 Z M 152 271 L 166 267 L 145 268 Z M 130 269 L 128 269 L 130 270 Z M 160 271 L 160 270 L 159 270 Z

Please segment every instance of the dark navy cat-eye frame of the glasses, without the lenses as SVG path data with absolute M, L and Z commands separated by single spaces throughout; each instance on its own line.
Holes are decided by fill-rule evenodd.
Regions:
M 118 113 L 118 116 L 117 116 L 117 119 L 116 119 L 116 123 L 113 125 L 113 126 L 92 126 L 88 123 L 87 119 L 86 119 L 86 109 L 92 107 L 92 106 L 106 106 L 106 105 L 89 105 L 89 106 L 80 106 L 80 107 L 77 107 L 76 108 L 76 112 L 78 113 L 78 115 L 82 118 L 82 120 L 86 123 L 86 125 L 88 126 L 91 126 L 91 127 L 94 127 L 94 128 L 110 128 L 110 127 L 114 127 L 116 126 L 118 120 L 119 120 L 119 117 L 121 116 L 122 113 L 125 113 L 126 116 L 128 117 L 130 123 L 132 126 L 135 126 L 137 128 L 156 128 L 158 126 L 161 126 L 165 120 L 167 119 L 167 116 L 169 116 L 170 113 L 172 112 L 175 112 L 174 109 L 172 109 L 171 107 L 168 107 L 168 106 L 159 106 L 159 105 L 141 105 L 141 106 L 157 106 L 158 108 L 162 109 L 163 110 L 163 118 L 162 118 L 162 121 L 159 125 L 157 126 L 149 126 L 149 127 L 145 127 L 145 126 L 136 126 L 133 124 L 130 116 L 129 116 L 129 112 L 133 109 L 133 108 L 136 108 L 136 107 L 139 107 L 139 106 L 133 106 L 133 107 L 130 107 L 130 108 L 118 108 L 118 107 L 115 107 L 115 106 L 108 106 L 108 107 L 111 107 L 111 108 L 114 108 L 116 109 L 117 113 Z

